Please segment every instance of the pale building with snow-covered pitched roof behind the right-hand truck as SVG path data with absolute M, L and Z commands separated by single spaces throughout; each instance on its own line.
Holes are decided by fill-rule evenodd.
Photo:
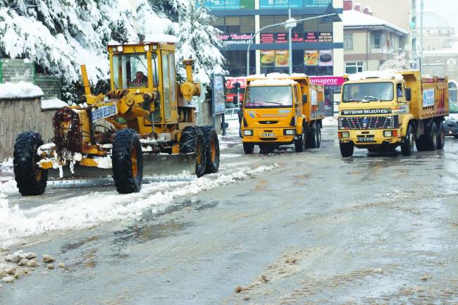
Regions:
M 342 20 L 345 73 L 379 70 L 385 61 L 405 54 L 407 30 L 376 18 L 370 9 L 346 7 Z

